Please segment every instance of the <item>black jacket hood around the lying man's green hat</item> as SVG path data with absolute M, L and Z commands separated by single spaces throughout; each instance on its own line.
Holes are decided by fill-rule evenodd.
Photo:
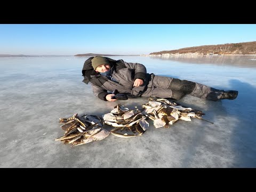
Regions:
M 98 73 L 92 67 L 92 59 L 93 58 L 94 57 L 90 57 L 89 59 L 87 59 L 84 62 L 84 66 L 83 66 L 83 69 L 82 69 L 82 74 L 84 76 L 83 82 L 86 83 L 86 84 L 88 84 L 90 82 L 90 79 L 92 78 L 92 76 L 98 75 Z M 116 60 L 114 60 L 114 59 L 110 59 L 110 58 L 107 58 L 107 57 L 105 57 L 105 58 L 108 61 L 110 61 L 111 66 L 113 66 L 112 62 L 116 62 Z

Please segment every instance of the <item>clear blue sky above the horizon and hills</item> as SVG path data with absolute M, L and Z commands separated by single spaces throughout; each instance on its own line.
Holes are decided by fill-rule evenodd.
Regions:
M 0 24 L 0 54 L 149 54 L 252 41 L 255 24 Z

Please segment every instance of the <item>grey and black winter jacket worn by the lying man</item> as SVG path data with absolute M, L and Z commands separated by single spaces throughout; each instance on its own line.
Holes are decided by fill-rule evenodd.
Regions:
M 107 57 L 106 57 L 107 58 Z M 135 97 L 140 97 L 146 90 L 150 74 L 147 74 L 146 67 L 140 63 L 128 63 L 124 60 L 113 60 L 107 58 L 111 63 L 111 75 L 119 82 L 114 82 L 106 76 L 101 76 L 93 67 L 90 57 L 84 62 L 82 74 L 84 76 L 83 82 L 92 85 L 93 93 L 96 97 L 106 100 L 106 95 L 117 90 L 119 93 L 129 93 Z M 135 79 L 143 79 L 141 86 L 133 86 Z

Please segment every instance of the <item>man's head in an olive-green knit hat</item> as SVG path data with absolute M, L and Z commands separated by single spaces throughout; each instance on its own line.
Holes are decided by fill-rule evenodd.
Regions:
M 108 71 L 111 68 L 110 65 L 105 57 L 97 56 L 92 59 L 92 67 L 97 72 L 104 73 Z

